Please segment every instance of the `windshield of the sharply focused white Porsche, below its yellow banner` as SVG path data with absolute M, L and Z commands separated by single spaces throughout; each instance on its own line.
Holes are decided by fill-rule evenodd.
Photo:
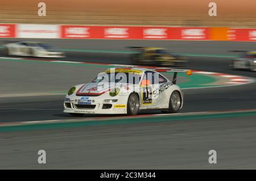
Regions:
M 141 75 L 134 73 L 101 73 L 92 82 L 114 82 L 139 84 Z

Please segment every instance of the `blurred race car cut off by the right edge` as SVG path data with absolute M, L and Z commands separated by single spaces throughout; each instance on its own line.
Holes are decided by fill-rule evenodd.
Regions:
M 230 65 L 233 69 L 247 69 L 256 71 L 256 51 L 232 51 L 242 52 Z

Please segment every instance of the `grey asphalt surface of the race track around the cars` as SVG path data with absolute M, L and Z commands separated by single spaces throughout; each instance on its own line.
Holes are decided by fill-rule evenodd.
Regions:
M 256 78 L 255 72 L 229 68 L 232 56 L 236 55 L 229 50 L 253 50 L 256 47 L 253 42 L 60 39 L 40 41 L 67 49 L 67 58 L 62 59 L 64 61 L 129 64 L 129 49 L 125 47 L 156 46 L 166 47 L 172 52 L 191 54 L 189 66 L 183 68 Z M 81 49 L 90 51 L 79 51 Z M 4 55 L 1 54 L 0 57 Z M 0 95 L 1 123 L 99 117 L 90 115 L 74 118 L 63 113 L 64 95 L 61 94 L 21 94 L 39 94 L 52 90 L 53 87 L 59 87 L 59 91 L 68 90 L 72 85 L 92 80 L 102 68 L 21 64 L 23 63 L 0 61 L 0 94 L 20 93 L 15 97 Z M 27 81 L 28 79 L 30 81 Z M 190 89 L 184 90 L 184 93 L 185 104 L 181 113 L 256 108 L 256 83 Z M 142 115 L 147 114 L 148 112 L 142 112 Z M 111 116 L 107 117 L 111 119 Z M 256 116 L 248 116 L 0 132 L 0 169 L 255 169 L 255 120 Z M 47 151 L 46 165 L 37 163 L 37 151 L 40 149 Z M 216 165 L 208 163 L 210 149 L 217 151 Z

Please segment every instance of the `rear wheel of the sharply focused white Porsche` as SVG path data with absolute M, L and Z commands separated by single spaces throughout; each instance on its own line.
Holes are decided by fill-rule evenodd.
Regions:
M 181 95 L 179 91 L 172 92 L 169 100 L 168 111 L 162 111 L 163 113 L 177 113 L 181 107 Z

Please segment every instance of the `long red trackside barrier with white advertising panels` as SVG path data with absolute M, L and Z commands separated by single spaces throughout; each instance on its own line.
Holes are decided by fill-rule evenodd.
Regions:
M 0 37 L 256 41 L 256 28 L 0 24 Z

